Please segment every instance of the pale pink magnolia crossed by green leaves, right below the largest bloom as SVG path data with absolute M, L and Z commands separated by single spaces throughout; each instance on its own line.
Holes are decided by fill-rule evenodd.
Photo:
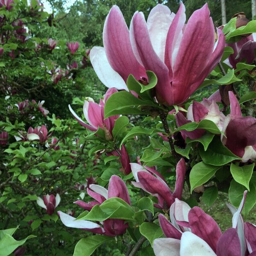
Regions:
M 219 91 L 212 94 L 208 99 L 204 98 L 202 102 L 194 101 L 188 108 L 186 117 L 178 112 L 175 115 L 177 126 L 185 125 L 190 122 L 200 122 L 203 119 L 210 120 L 218 126 L 222 131 L 225 115 L 219 110 L 216 102 L 221 102 Z M 198 139 L 205 133 L 204 129 L 196 129 L 194 131 L 181 131 L 183 138 Z

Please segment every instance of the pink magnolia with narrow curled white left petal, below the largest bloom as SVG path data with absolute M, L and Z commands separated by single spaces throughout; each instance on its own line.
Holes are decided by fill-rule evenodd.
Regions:
M 115 88 L 110 88 L 107 90 L 104 99 L 100 99 L 99 104 L 92 102 L 92 101 L 84 101 L 84 117 L 89 123 L 85 123 L 71 108 L 69 105 L 69 109 L 73 116 L 76 118 L 76 120 L 79 122 L 80 125 L 84 126 L 85 128 L 88 128 L 90 131 L 97 131 L 98 128 L 102 128 L 105 132 L 105 139 L 106 140 L 112 140 L 113 134 L 112 130 L 115 125 L 115 120 L 119 117 L 117 116 L 111 116 L 106 119 L 104 119 L 104 107 L 105 102 L 108 100 L 108 98 L 113 94 L 116 93 L 117 90 Z

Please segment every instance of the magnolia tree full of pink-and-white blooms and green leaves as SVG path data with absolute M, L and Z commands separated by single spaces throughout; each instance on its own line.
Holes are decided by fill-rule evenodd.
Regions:
M 22 8 L 30 15 L 19 19 Z M 215 31 L 207 4 L 190 17 L 183 3 L 176 14 L 158 4 L 147 20 L 135 12 L 128 28 L 113 6 L 103 47 L 86 51 L 78 42 L 38 44 L 25 36 L 25 20 L 48 17 L 37 1 L 30 7 L 5 1 L 1 11 L 9 24 L 1 27 L 6 70 L 20 55 L 36 55 L 41 75 L 31 81 L 67 90 L 90 62 L 108 90 L 98 103 L 70 102 L 81 106 L 69 105 L 72 119 L 50 117 L 44 99 L 13 104 L 20 75 L 3 72 L 6 109 L 14 105 L 22 119 L 7 114 L 0 123 L 0 255 L 90 256 L 103 243 L 126 256 L 256 255 L 256 226 L 242 217 L 256 204 L 255 21 L 240 13 Z M 59 49 L 66 68 L 44 56 Z M 209 85 L 214 93 L 202 99 Z M 39 114 L 43 121 L 32 121 Z M 200 208 L 219 193 L 231 203 L 227 230 Z M 25 248 L 26 239 L 12 237 L 19 223 L 29 241 L 34 234 L 48 241 Z

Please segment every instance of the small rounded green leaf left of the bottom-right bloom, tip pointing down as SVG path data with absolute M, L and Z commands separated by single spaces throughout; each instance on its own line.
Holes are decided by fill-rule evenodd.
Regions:
M 163 236 L 163 231 L 161 227 L 150 222 L 144 222 L 143 224 L 140 225 L 140 233 L 143 236 L 145 236 L 146 239 L 148 239 L 148 241 L 151 244 L 151 247 L 153 247 L 154 239 Z

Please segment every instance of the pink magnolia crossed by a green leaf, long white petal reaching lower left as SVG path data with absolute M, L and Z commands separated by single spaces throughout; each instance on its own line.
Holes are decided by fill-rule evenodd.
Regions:
M 100 205 L 105 200 L 112 197 L 119 197 L 123 199 L 127 204 L 131 205 L 128 189 L 125 186 L 123 180 L 116 175 L 111 176 L 108 189 L 105 189 L 99 185 L 91 184 L 90 189 L 87 189 L 87 193 L 96 201 L 85 203 L 84 201 L 79 200 L 74 202 L 74 204 L 78 204 L 80 207 L 88 211 L 90 211 L 96 204 Z M 62 223 L 67 227 L 75 227 L 82 230 L 88 230 L 93 233 L 103 234 L 105 236 L 122 235 L 129 227 L 128 224 L 125 224 L 125 221 L 121 219 L 107 219 L 103 221 L 101 226 L 100 224 L 96 224 L 92 221 L 76 220 L 76 218 L 71 217 L 70 215 L 61 211 L 58 212 L 58 215 L 60 216 Z

